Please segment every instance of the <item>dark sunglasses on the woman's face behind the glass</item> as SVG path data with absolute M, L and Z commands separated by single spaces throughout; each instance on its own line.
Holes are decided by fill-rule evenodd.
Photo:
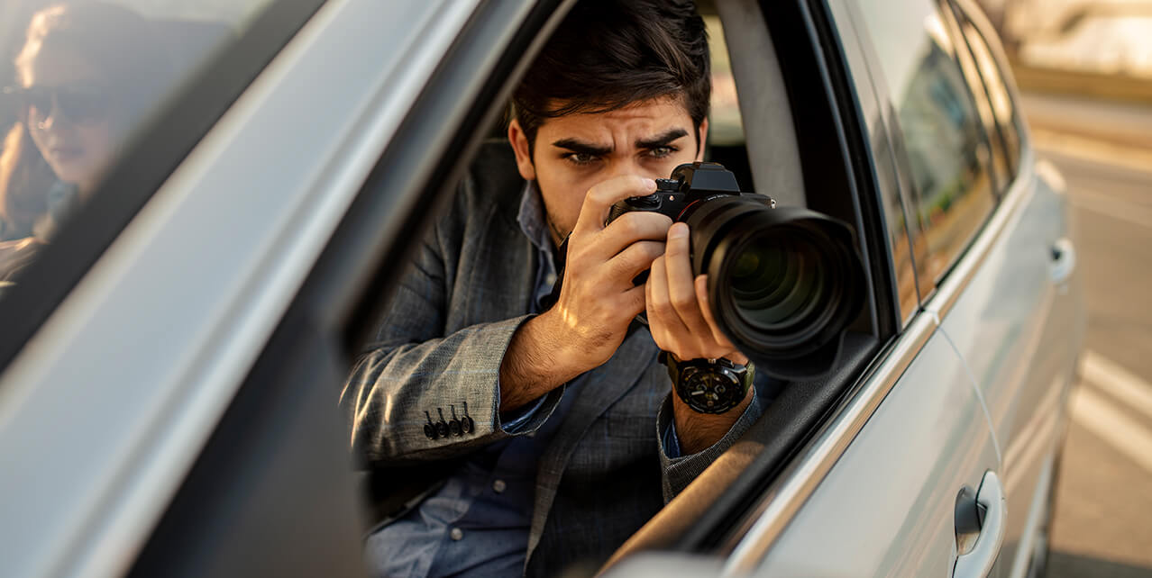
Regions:
M 109 108 L 107 93 L 90 85 L 6 86 L 3 96 L 20 112 L 21 120 L 40 129 L 53 109 L 74 124 L 94 124 L 107 117 Z

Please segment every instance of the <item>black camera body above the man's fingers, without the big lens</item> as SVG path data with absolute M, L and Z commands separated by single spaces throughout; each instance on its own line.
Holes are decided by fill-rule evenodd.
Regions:
M 629 197 L 613 205 L 605 225 L 632 211 L 660 213 L 673 222 L 685 221 L 705 201 L 733 196 L 759 197 L 768 208 L 776 206 L 771 197 L 741 192 L 736 175 L 719 162 L 697 161 L 676 167 L 670 178 L 657 178 L 655 192 Z

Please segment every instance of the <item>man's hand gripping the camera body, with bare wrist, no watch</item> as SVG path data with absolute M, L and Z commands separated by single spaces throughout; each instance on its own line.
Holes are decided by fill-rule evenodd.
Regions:
M 644 311 L 632 284 L 664 253 L 672 220 L 631 212 L 605 227 L 616 201 L 649 195 L 655 181 L 620 176 L 588 191 L 568 237 L 564 279 L 555 306 L 513 336 L 500 366 L 500 410 L 508 411 L 607 362 Z

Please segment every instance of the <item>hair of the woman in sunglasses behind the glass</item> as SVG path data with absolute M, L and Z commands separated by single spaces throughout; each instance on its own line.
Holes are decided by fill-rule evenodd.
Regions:
M 38 10 L 15 58 L 17 84 L 31 59 L 45 48 L 66 48 L 91 60 L 115 91 L 118 108 L 126 113 L 147 112 L 168 79 L 169 54 L 152 22 L 118 5 L 97 0 L 55 2 Z M 0 219 L 8 222 L 10 231 L 28 233 L 32 221 L 47 210 L 45 197 L 55 175 L 23 120 L 5 132 Z

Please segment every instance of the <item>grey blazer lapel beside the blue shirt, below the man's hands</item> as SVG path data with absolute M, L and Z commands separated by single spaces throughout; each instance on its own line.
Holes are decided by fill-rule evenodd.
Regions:
M 560 478 L 573 450 L 592 421 L 639 382 L 658 352 L 659 349 L 647 328 L 636 327 L 624 337 L 616 353 L 606 364 L 584 374 L 586 381 L 579 385 L 578 391 L 574 391 L 578 397 L 573 401 L 573 406 L 548 449 L 540 456 L 524 568 L 528 568 L 528 561 L 540 542 L 544 523 L 548 519 L 548 511 L 556 497 L 556 488 L 560 487 Z

